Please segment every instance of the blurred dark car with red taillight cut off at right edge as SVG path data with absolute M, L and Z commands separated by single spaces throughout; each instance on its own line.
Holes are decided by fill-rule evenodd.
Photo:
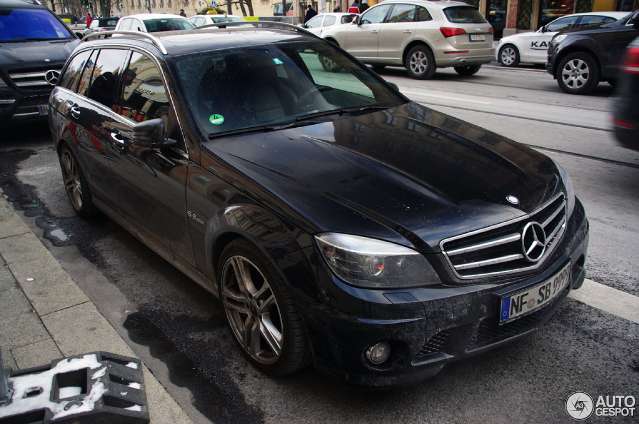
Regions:
M 619 69 L 613 103 L 617 139 L 627 148 L 639 150 L 639 38 L 628 45 Z

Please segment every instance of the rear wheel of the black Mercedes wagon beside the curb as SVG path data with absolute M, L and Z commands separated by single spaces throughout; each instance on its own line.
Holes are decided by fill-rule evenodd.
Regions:
M 73 206 L 73 210 L 78 216 L 88 218 L 95 214 L 93 207 L 93 196 L 89 188 L 84 172 L 78 163 L 77 158 L 66 144 L 60 149 L 58 156 L 62 178 L 65 182 L 66 195 Z

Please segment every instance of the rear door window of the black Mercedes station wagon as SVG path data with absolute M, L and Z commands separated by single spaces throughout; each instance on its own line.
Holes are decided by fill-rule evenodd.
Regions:
M 89 98 L 100 102 L 109 109 L 116 110 L 119 77 L 128 50 L 102 49 L 95 61 L 93 80 Z

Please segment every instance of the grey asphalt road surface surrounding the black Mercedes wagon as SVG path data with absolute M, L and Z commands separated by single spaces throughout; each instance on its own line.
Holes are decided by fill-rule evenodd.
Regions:
M 610 132 L 612 87 L 570 96 L 541 70 L 498 66 L 427 81 L 399 68 L 381 75 L 561 163 L 590 220 L 588 278 L 639 296 L 639 153 Z M 108 218 L 75 217 L 46 126 L 13 128 L 0 150 L 5 194 L 197 423 L 558 423 L 571 421 L 574 391 L 639 398 L 638 324 L 570 298 L 538 333 L 408 388 L 362 391 L 312 367 L 265 377 L 243 359 L 217 299 Z

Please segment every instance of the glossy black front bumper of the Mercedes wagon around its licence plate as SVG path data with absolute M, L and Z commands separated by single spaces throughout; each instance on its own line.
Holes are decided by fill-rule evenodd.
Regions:
M 323 302 L 301 305 L 316 368 L 362 386 L 401 386 L 433 377 L 447 363 L 536 331 L 585 278 L 588 222 L 576 203 L 546 266 L 511 282 L 382 291 L 357 289 L 327 272 L 324 277 L 318 273 Z M 306 252 L 311 263 L 321 262 L 311 250 Z M 548 280 L 568 261 L 571 284 L 557 298 L 531 314 L 499 324 L 502 296 Z M 391 354 L 389 360 L 373 365 L 364 352 L 378 342 L 387 342 Z

